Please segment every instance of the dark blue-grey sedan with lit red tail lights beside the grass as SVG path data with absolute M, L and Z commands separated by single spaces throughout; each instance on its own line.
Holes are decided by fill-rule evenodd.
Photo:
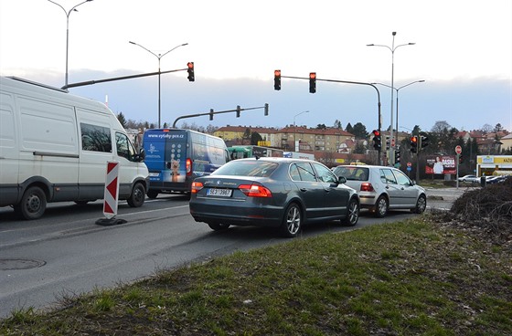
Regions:
M 312 160 L 234 160 L 193 182 L 190 214 L 213 230 L 271 226 L 287 237 L 312 222 L 339 220 L 355 226 L 359 197 L 346 181 Z

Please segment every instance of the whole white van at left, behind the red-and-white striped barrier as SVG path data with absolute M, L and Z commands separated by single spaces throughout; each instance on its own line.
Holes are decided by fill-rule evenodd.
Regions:
M 112 110 L 62 89 L 0 78 L 0 206 L 36 219 L 47 203 L 103 198 L 107 162 L 119 199 L 144 205 L 149 173 Z

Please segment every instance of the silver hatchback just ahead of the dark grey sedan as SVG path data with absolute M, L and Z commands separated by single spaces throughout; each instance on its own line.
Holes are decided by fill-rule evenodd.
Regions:
M 340 165 L 333 169 L 338 178 L 345 177 L 347 185 L 356 189 L 362 208 L 378 217 L 389 209 L 411 209 L 421 214 L 427 207 L 425 189 L 414 184 L 399 169 L 375 165 Z

